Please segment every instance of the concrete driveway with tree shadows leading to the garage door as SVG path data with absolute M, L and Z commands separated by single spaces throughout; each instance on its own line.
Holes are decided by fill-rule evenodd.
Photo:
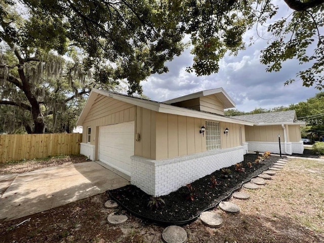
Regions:
M 0 222 L 53 209 L 128 183 L 92 161 L 0 175 Z

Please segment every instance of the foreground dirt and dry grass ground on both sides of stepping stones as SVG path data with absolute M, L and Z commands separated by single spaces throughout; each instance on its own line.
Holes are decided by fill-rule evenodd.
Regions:
M 230 199 L 240 207 L 239 214 L 215 209 L 224 220 L 219 229 L 208 228 L 200 220 L 184 226 L 188 242 L 324 242 L 324 163 L 293 159 L 261 189 L 242 190 L 251 195 L 249 200 Z M 2 222 L 0 242 L 162 242 L 164 227 L 132 215 L 122 225 L 107 224 L 113 212 L 103 207 L 108 198 L 103 193 Z

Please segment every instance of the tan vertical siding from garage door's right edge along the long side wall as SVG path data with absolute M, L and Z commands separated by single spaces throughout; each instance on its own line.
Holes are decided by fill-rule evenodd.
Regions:
M 215 120 L 214 120 L 215 121 Z M 206 151 L 206 137 L 199 133 L 206 120 L 155 112 L 136 107 L 136 130 L 141 140 L 135 142 L 135 155 L 164 159 Z M 244 126 L 221 123 L 221 147 L 230 148 L 245 142 Z M 229 129 L 226 136 L 223 131 Z M 241 134 L 241 135 L 240 135 Z

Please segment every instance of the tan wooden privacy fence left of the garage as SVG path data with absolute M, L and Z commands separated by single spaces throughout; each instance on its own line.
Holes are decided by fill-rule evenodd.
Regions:
M 79 154 L 80 142 L 82 142 L 82 134 L 79 133 L 0 135 L 0 163 Z

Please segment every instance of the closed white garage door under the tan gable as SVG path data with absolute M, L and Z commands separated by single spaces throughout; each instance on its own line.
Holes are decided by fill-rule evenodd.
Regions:
M 99 160 L 131 176 L 131 156 L 134 155 L 135 122 L 99 128 Z

